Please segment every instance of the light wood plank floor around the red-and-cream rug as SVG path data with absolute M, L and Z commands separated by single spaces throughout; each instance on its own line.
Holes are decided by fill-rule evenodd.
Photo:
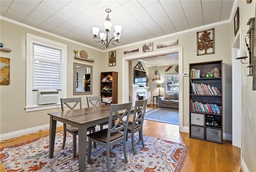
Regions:
M 152 108 L 152 106 L 148 106 Z M 156 108 L 156 105 L 154 105 Z M 188 133 L 179 132 L 178 125 L 158 123 L 155 121 L 144 121 L 143 134 L 178 142 L 190 146 L 187 158 L 184 162 L 182 172 L 242 172 L 240 170 L 240 148 L 232 146 L 230 141 L 223 144 L 207 142 L 189 138 Z M 58 127 L 57 132 L 63 130 Z M 29 134 L 9 141 L 0 142 L 0 148 L 18 142 L 30 140 L 49 134 L 49 130 Z M 1 164 L 0 172 L 4 172 Z

